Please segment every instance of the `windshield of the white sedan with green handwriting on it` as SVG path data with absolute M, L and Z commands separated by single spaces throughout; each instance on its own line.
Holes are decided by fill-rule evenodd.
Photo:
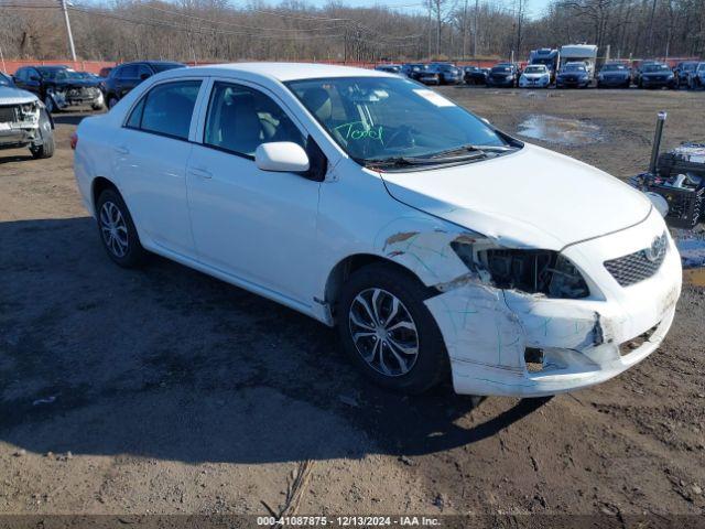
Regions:
M 433 156 L 464 145 L 507 147 L 482 120 L 403 78 L 340 77 L 286 83 L 358 162 Z

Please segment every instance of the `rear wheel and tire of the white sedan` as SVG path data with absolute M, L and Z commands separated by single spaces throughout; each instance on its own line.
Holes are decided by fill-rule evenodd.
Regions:
M 116 190 L 105 190 L 96 204 L 100 241 L 108 257 L 123 268 L 138 267 L 145 251 L 140 242 L 132 216 Z

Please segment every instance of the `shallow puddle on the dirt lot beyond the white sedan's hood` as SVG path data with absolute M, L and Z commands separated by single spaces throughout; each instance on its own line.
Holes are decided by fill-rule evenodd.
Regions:
M 562 145 L 584 145 L 603 141 L 601 128 L 579 119 L 556 118 L 554 116 L 529 116 L 519 123 L 519 133 L 527 138 L 543 140 Z

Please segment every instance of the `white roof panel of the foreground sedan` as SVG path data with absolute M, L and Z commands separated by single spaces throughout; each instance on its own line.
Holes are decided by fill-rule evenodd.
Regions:
M 194 72 L 199 72 L 205 75 L 224 76 L 245 73 L 253 77 L 263 77 L 281 83 L 326 77 L 397 77 L 394 74 L 376 69 L 312 63 L 231 63 L 188 68 L 188 73 L 193 74 Z M 172 71 L 171 75 L 178 76 L 187 74 L 185 74 L 184 71 L 176 69 Z

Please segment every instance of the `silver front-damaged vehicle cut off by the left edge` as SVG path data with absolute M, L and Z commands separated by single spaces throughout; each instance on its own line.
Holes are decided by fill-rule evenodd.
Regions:
M 54 155 L 54 123 L 31 91 L 0 72 L 0 150 L 29 148 L 33 158 Z

